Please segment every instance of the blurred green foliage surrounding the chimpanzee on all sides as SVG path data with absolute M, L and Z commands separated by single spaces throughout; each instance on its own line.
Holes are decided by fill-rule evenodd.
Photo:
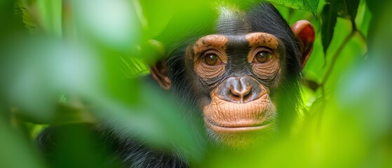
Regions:
M 392 167 L 392 3 L 271 2 L 290 25 L 305 19 L 317 31 L 304 68 L 302 122 L 292 137 L 268 148 L 215 151 L 194 166 Z M 147 74 L 144 62 L 158 59 L 148 40 L 170 41 L 166 31 L 180 36 L 184 30 L 175 24 L 208 22 L 203 9 L 215 3 L 1 1 L 0 167 L 46 167 L 32 143 L 45 125 L 98 121 L 201 158 L 203 137 L 187 127 L 175 100 L 133 77 Z M 178 13 L 180 22 L 170 22 Z

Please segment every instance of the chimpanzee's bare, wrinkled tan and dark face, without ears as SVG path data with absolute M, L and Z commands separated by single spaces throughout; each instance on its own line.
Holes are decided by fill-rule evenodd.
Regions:
M 283 56 L 283 43 L 266 33 L 208 35 L 189 46 L 187 69 L 213 140 L 247 146 L 273 132 L 277 111 L 270 96 L 283 73 Z

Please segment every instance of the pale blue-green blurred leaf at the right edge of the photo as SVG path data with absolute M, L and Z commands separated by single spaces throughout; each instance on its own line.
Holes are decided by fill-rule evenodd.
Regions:
M 389 64 L 371 59 L 344 73 L 337 86 L 339 108 L 366 125 L 362 129 L 369 138 L 384 136 L 392 129 L 390 71 Z

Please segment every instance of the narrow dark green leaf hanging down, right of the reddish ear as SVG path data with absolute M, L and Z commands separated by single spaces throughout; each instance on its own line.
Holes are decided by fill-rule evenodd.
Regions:
M 324 55 L 327 55 L 327 49 L 330 46 L 334 36 L 334 27 L 337 22 L 337 13 L 334 12 L 330 4 L 326 4 L 321 13 L 321 41 L 323 43 Z

